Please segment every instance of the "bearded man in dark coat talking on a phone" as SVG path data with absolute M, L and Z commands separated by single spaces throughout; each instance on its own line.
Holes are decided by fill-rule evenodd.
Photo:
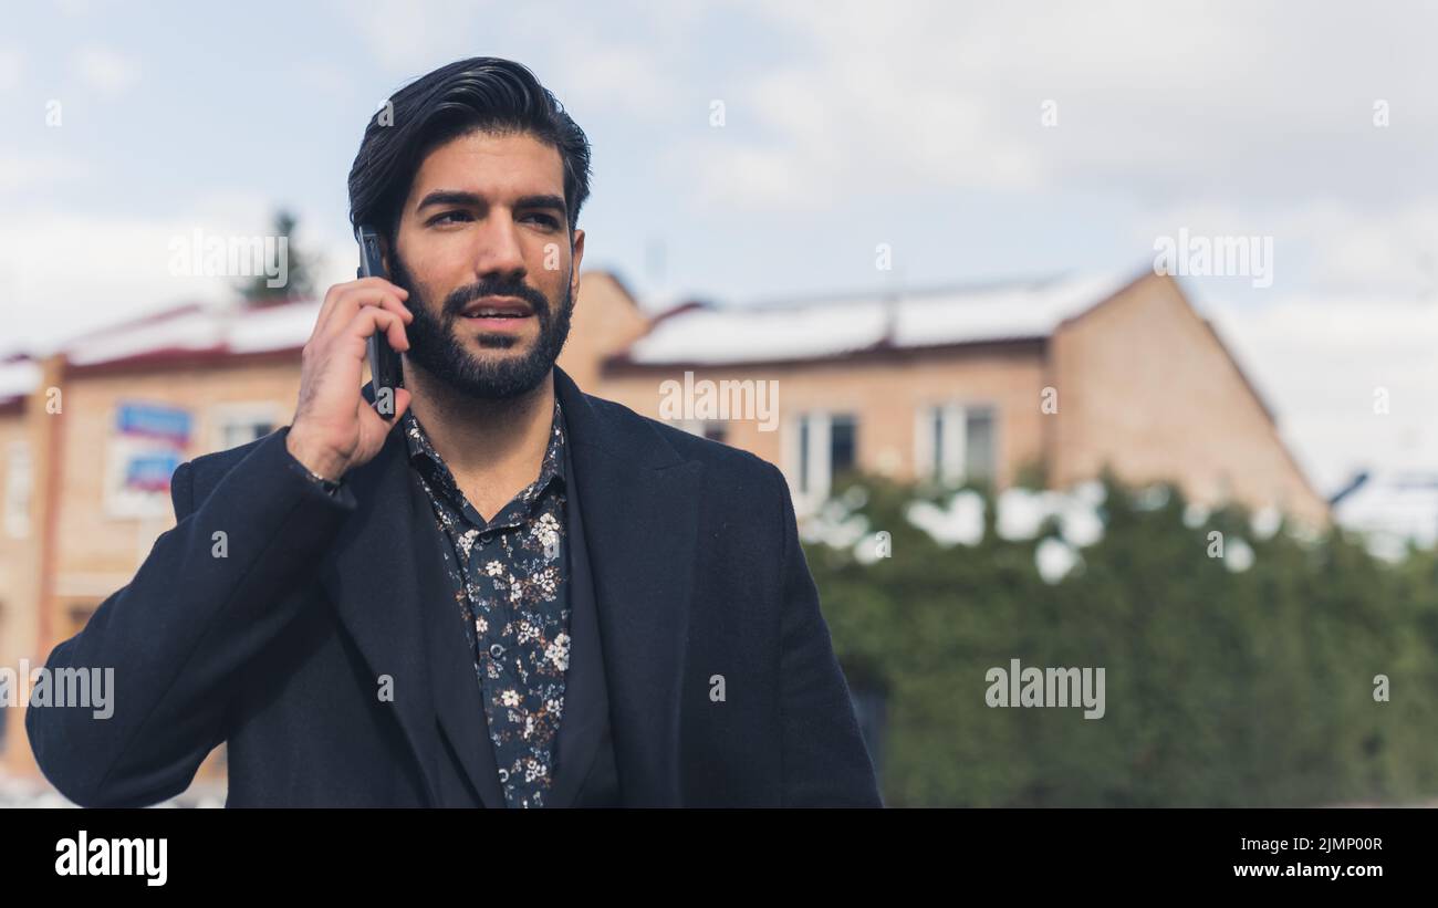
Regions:
M 178 526 L 50 654 L 115 705 L 30 710 L 45 774 L 148 805 L 227 741 L 229 806 L 881 806 L 784 477 L 554 365 L 584 132 L 490 57 L 391 103 L 349 198 L 393 283 L 325 295 L 290 425 L 175 471 Z

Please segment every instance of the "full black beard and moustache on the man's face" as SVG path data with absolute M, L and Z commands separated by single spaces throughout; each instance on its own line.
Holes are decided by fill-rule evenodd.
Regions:
M 569 338 L 569 316 L 574 315 L 569 282 L 564 283 L 564 300 L 558 306 L 558 315 L 538 290 L 522 283 L 486 279 L 450 293 L 444 299 L 440 318 L 436 318 L 400 257 L 391 254 L 390 259 L 394 272 L 390 280 L 410 292 L 404 305 L 414 313 L 414 320 L 404 326 L 410 340 L 406 356 L 426 372 L 466 397 L 499 401 L 533 391 L 554 368 L 559 351 Z M 485 296 L 515 296 L 529 303 L 535 318 L 539 319 L 539 339 L 528 353 L 480 361 L 464 349 L 454 335 L 456 325 L 463 325 L 464 306 Z M 513 346 L 518 339 L 512 335 L 482 332 L 479 342 L 480 346 L 505 349 Z

